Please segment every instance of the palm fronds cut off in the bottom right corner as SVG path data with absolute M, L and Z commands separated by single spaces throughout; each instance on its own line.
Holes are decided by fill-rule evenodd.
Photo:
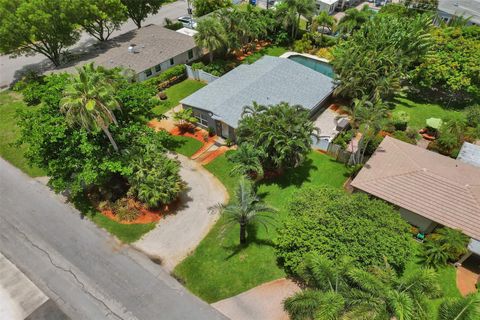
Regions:
M 440 305 L 438 313 L 439 320 L 480 319 L 480 293 L 446 300 Z

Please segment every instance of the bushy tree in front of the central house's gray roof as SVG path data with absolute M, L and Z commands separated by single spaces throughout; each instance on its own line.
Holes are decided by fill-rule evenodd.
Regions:
M 309 113 L 299 105 L 280 103 L 263 106 L 253 103 L 244 108 L 237 128 L 237 142 L 251 143 L 262 150 L 260 160 L 266 169 L 298 167 L 311 150 L 318 129 Z

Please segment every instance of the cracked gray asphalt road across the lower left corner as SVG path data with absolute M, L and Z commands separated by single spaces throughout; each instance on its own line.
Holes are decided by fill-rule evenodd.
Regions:
M 71 319 L 226 319 L 0 158 L 0 251 Z

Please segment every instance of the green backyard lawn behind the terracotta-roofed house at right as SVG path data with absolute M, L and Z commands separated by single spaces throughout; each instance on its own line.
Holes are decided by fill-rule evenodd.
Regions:
M 425 120 L 428 118 L 446 119 L 449 116 L 461 114 L 460 111 L 446 109 L 439 104 L 418 103 L 406 98 L 395 99 L 395 111 L 405 111 L 410 115 L 408 125 L 420 130 L 425 127 Z

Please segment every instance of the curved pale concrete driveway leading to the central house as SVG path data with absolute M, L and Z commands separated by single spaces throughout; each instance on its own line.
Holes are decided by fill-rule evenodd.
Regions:
M 228 201 L 223 184 L 199 163 L 178 155 L 180 175 L 187 190 L 180 196 L 178 210 L 157 223 L 155 229 L 134 243 L 134 246 L 161 261 L 172 271 L 192 252 L 218 219 L 211 206 Z

